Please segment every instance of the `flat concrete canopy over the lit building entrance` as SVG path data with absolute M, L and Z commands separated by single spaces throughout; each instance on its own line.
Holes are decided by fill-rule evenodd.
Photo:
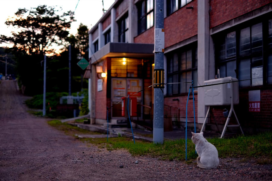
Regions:
M 106 57 L 124 57 L 154 59 L 154 44 L 144 43 L 107 43 L 91 56 L 90 64 L 85 71 L 84 78 L 91 77 L 91 64 L 99 63 Z

